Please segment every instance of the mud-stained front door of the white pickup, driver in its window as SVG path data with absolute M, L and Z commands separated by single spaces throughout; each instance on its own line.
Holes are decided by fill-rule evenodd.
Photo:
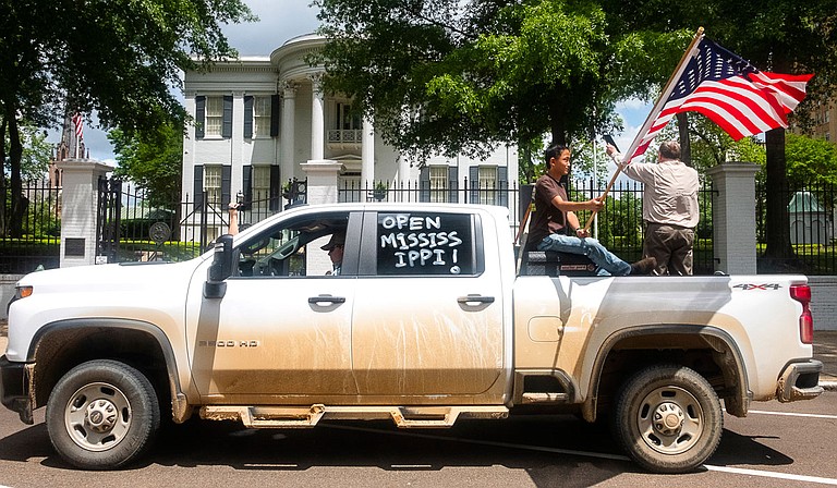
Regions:
M 239 269 L 225 296 L 202 297 L 199 309 L 187 312 L 202 395 L 258 404 L 275 403 L 271 395 L 356 393 L 350 345 L 356 279 L 335 276 L 322 249 L 349 229 L 343 265 L 354 260 L 356 268 L 351 220 L 349 212 L 301 216 L 235 242 Z

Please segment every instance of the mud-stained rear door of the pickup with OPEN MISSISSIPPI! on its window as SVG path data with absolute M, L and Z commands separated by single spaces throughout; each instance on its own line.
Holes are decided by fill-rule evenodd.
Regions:
M 369 212 L 363 240 L 352 329 L 359 392 L 487 391 L 504 366 L 502 300 L 478 216 Z

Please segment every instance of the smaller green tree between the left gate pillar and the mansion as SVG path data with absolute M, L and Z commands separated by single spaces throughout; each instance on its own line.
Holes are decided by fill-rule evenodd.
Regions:
M 108 133 L 117 154 L 118 176 L 124 176 L 148 192 L 148 204 L 171 208 L 180 199 L 183 132 L 165 124 L 157 131 L 128 135 L 119 129 Z

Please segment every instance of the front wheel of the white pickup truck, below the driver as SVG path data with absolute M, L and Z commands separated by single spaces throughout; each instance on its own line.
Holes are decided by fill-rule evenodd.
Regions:
M 160 426 L 154 387 L 123 363 L 83 363 L 56 385 L 47 402 L 56 451 L 83 469 L 114 469 L 138 457 Z

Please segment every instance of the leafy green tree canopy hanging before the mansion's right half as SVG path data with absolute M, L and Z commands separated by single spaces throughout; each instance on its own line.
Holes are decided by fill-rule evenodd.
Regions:
M 612 132 L 616 101 L 647 96 L 691 36 L 614 29 L 593 0 L 314 3 L 327 89 L 354 97 L 387 143 L 420 160 Z

